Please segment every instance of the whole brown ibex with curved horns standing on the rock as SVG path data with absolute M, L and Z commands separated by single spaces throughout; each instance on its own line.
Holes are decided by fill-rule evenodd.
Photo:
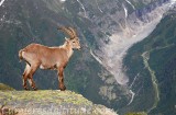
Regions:
M 64 85 L 64 68 L 69 61 L 74 49 L 80 49 L 80 44 L 77 33 L 73 27 L 62 26 L 57 30 L 61 30 L 69 35 L 69 38 L 65 39 L 64 45 L 47 47 L 40 44 L 30 44 L 19 51 L 20 60 L 24 60 L 26 62 L 22 74 L 24 90 L 30 90 L 26 84 L 28 80 L 31 88 L 33 90 L 37 90 L 33 80 L 33 74 L 37 68 L 57 70 L 59 81 L 58 88 L 62 91 L 66 90 L 66 87 Z

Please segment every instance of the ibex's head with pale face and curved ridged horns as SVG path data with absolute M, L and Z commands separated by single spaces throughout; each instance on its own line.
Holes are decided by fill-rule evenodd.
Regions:
M 67 44 L 72 46 L 73 49 L 80 49 L 79 38 L 76 31 L 73 27 L 61 26 L 58 30 L 65 32 L 69 35 L 69 38 L 66 38 Z

